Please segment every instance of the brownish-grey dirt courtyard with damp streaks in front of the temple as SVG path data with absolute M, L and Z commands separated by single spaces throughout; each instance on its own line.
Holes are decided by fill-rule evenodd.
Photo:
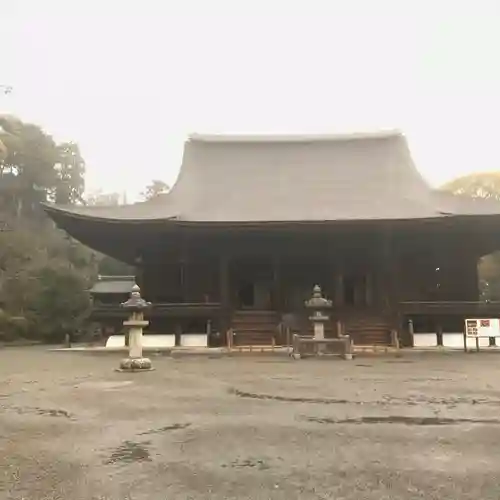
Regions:
M 500 352 L 0 350 L 0 499 L 499 498 Z

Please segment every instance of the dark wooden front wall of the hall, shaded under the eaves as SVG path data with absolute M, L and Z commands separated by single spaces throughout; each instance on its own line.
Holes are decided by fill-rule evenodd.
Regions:
M 148 300 L 221 301 L 221 255 L 229 259 L 232 308 L 238 303 L 238 283 L 245 280 L 261 283 L 259 293 L 268 289 L 276 310 L 301 308 L 315 284 L 337 308 L 386 310 L 401 301 L 478 298 L 479 250 L 456 232 L 347 227 L 331 233 L 190 234 L 179 241 L 165 241 L 163 250 L 145 258 Z

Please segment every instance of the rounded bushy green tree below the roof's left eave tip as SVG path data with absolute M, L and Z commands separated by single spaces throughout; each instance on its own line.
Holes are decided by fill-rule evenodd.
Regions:
M 4 328 L 22 324 L 31 338 L 62 340 L 63 330 L 78 328 L 88 312 L 86 290 L 97 265 L 94 252 L 49 225 L 0 232 L 3 319 L 23 320 L 4 321 Z

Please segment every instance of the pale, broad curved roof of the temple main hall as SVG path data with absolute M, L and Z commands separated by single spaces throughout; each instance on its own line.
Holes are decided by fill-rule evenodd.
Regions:
M 54 219 L 201 223 L 406 220 L 500 214 L 500 203 L 431 189 L 399 132 L 202 136 L 172 190 L 118 207 L 45 205 Z

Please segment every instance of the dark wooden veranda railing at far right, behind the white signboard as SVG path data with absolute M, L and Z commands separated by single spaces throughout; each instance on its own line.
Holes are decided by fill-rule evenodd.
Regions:
M 500 314 L 500 302 L 479 301 L 435 301 L 435 302 L 401 302 L 400 311 L 403 314 L 464 314 L 482 316 L 484 314 Z

